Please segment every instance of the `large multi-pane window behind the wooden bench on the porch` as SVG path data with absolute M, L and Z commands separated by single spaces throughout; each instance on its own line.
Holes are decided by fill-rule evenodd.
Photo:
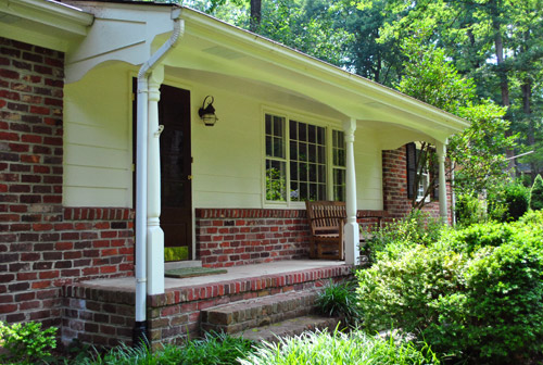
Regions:
M 327 163 L 327 129 L 266 114 L 266 201 L 327 200 L 328 167 L 333 198 L 344 200 L 345 151 L 343 133 L 332 130 L 332 164 Z M 288 141 L 288 142 L 287 142 Z

